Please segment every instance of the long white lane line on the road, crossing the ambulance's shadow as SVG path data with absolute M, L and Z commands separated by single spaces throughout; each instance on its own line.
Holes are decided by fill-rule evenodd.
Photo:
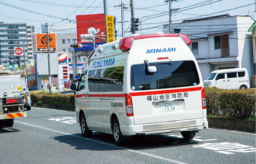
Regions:
M 17 123 L 19 123 L 19 124 L 24 124 L 24 125 L 29 125 L 29 126 L 37 127 L 37 128 L 42 128 L 42 129 L 44 129 L 44 130 L 53 131 L 53 132 L 56 132 L 56 133 L 61 133 L 61 134 L 69 135 L 69 136 L 72 136 L 72 137 L 77 137 L 77 138 L 80 138 L 80 139 L 86 139 L 86 140 L 89 140 L 89 141 L 92 141 L 92 142 L 96 142 L 96 143 L 108 145 L 108 146 L 111 146 L 111 147 L 114 147 L 114 148 L 117 148 L 117 149 L 123 149 L 123 150 L 131 151 L 131 152 L 133 152 L 133 153 L 137 153 L 137 154 L 141 154 L 141 155 L 146 155 L 146 156 L 154 157 L 154 158 L 156 158 L 156 159 L 160 159 L 160 160 L 164 160 L 164 161 L 169 161 L 169 162 L 178 163 L 178 164 L 187 164 L 187 163 L 180 162 L 180 161 L 177 161 L 177 160 L 168 159 L 168 158 L 166 158 L 166 157 L 162 157 L 162 156 L 158 156 L 158 155 L 154 155 L 154 154 L 150 154 L 150 153 L 144 153 L 144 152 L 141 152 L 141 151 L 138 151 L 138 150 L 127 149 L 127 148 L 124 148 L 124 147 L 117 147 L 117 146 L 114 145 L 114 144 L 109 144 L 109 143 L 105 143 L 105 142 L 100 142 L 99 140 L 95 140 L 95 139 L 91 139 L 91 138 L 84 138 L 84 137 L 81 137 L 81 136 L 77 136 L 77 135 L 75 135 L 75 134 L 65 133 L 65 132 L 53 130 L 53 129 L 47 128 L 47 127 L 42 127 L 42 126 L 37 126 L 37 125 L 31 125 L 31 124 L 27 124 L 27 123 L 20 122 L 20 121 L 14 121 L 14 122 L 17 122 Z

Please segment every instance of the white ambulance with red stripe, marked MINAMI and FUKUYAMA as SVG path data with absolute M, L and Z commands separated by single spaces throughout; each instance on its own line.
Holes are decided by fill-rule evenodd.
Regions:
M 76 120 L 84 137 L 181 132 L 208 128 L 203 80 L 185 34 L 150 34 L 99 46 L 75 90 Z

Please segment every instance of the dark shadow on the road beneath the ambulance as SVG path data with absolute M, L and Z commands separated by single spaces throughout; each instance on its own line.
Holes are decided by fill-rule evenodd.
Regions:
M 53 137 L 60 143 L 69 144 L 77 150 L 120 150 L 120 149 L 155 149 L 163 147 L 176 147 L 180 145 L 197 144 L 195 140 L 184 139 L 177 135 L 155 134 L 149 136 L 132 136 L 123 147 L 117 147 L 111 134 L 93 132 L 91 138 L 83 138 L 81 133 Z

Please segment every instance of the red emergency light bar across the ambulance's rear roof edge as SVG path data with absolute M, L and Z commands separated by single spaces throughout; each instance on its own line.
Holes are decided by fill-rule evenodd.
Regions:
M 190 38 L 186 34 L 175 34 L 175 33 L 166 33 L 166 34 L 149 34 L 144 36 L 134 36 L 123 38 L 119 42 L 119 49 L 121 51 L 129 51 L 132 48 L 133 40 L 135 39 L 146 39 L 146 38 L 159 38 L 159 37 L 181 37 L 186 45 L 191 44 Z

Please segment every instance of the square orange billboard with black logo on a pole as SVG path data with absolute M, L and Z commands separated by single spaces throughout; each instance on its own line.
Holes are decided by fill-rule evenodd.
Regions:
M 49 51 L 54 52 L 57 50 L 56 48 L 56 34 L 49 33 Z M 37 33 L 36 34 L 36 51 L 37 52 L 47 52 L 47 34 L 46 33 Z

